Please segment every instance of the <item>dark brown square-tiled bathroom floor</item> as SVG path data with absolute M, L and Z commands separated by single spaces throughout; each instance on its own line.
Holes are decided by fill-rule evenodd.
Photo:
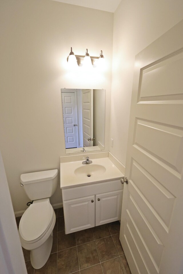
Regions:
M 34 269 L 23 249 L 28 274 L 131 274 L 119 233 L 119 221 L 65 235 L 63 208 L 55 209 L 53 246 L 47 263 Z M 21 217 L 17 217 L 17 227 Z

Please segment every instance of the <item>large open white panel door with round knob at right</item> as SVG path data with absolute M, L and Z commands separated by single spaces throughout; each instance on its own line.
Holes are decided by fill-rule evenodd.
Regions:
M 132 274 L 183 272 L 183 21 L 136 56 L 120 240 Z

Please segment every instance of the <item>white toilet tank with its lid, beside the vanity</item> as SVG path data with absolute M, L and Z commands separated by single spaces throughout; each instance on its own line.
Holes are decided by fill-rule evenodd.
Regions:
M 45 170 L 21 174 L 21 186 L 31 200 L 49 198 L 58 184 L 58 170 Z

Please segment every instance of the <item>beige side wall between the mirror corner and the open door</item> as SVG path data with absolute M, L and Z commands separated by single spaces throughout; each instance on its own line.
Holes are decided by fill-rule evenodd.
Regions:
M 182 18 L 182 0 L 122 0 L 114 13 L 110 152 L 124 165 L 135 55 Z

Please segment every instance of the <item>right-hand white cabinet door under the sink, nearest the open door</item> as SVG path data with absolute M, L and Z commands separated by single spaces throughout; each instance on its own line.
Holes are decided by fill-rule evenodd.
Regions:
M 96 195 L 96 226 L 121 218 L 123 190 Z

